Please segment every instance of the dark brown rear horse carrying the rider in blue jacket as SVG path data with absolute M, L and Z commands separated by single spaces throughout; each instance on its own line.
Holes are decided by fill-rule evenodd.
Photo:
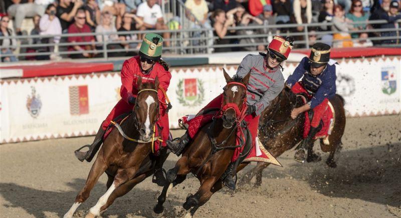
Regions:
M 345 129 L 344 99 L 340 95 L 335 95 L 330 99 L 330 102 L 335 112 L 334 128 L 328 137 L 329 144 L 324 144 L 323 139 L 320 139 L 320 147 L 322 151 L 330 152 L 326 164 L 329 167 L 336 167 L 334 154 L 341 148 L 341 137 Z M 259 122 L 259 139 L 274 157 L 278 157 L 284 151 L 293 148 L 303 139 L 304 113 L 299 114 L 295 119 L 290 118 L 291 110 L 302 104 L 303 101 L 300 96 L 296 96 L 290 89 L 284 88 L 271 102 L 270 106 L 263 111 Z M 315 140 L 308 146 L 307 162 L 317 162 L 321 159 L 312 150 L 314 142 Z M 262 171 L 269 164 L 258 162 L 257 166 L 241 178 L 239 184 L 249 183 L 252 177 L 256 175 L 255 186 L 260 186 L 262 184 Z

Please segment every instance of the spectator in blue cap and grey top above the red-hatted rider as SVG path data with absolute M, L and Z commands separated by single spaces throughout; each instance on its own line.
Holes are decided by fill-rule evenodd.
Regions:
M 263 21 L 263 25 L 265 28 L 260 28 L 257 30 L 258 34 L 268 34 L 268 37 L 262 37 L 262 43 L 263 44 L 268 44 L 272 39 L 273 35 L 279 34 L 279 31 L 276 28 L 270 27 L 270 25 L 276 24 L 276 19 L 275 16 L 273 16 L 273 10 L 272 6 L 269 4 L 266 4 L 263 7 L 263 13 L 258 16 L 259 19 Z M 259 47 L 260 48 L 260 47 Z M 258 50 L 260 50 L 258 48 Z M 265 47 L 263 47 L 263 50 Z

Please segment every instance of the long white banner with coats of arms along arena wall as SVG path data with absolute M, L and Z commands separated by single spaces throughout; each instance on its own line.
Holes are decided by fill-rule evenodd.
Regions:
M 348 116 L 399 113 L 401 110 L 400 58 L 361 58 L 339 61 L 337 93 L 346 101 Z M 222 92 L 222 68 L 234 75 L 234 66 L 171 70 L 167 94 L 171 100 L 170 127 L 178 118 L 195 114 Z M 296 64 L 284 66 L 287 78 Z M 94 134 L 120 97 L 119 73 L 2 80 L 0 142 Z

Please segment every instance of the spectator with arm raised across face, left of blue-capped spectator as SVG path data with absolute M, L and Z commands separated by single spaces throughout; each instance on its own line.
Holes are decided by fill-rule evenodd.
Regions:
M 269 4 L 266 4 L 269 5 Z M 269 5 L 271 6 L 271 5 Z M 244 8 L 245 11 L 245 8 Z M 238 14 L 238 12 L 237 12 Z M 258 17 L 252 16 L 249 13 L 244 13 L 242 15 L 242 18 L 239 23 L 237 23 L 237 26 L 257 26 L 257 25 L 262 25 L 263 20 L 261 20 Z M 263 41 L 260 40 L 260 38 L 253 36 L 255 34 L 255 31 L 250 29 L 240 29 L 237 31 L 237 34 L 239 35 L 247 35 L 244 38 L 240 39 L 240 44 L 254 44 L 254 45 L 246 45 L 244 47 L 241 47 L 242 50 L 247 50 L 247 51 L 254 51 L 255 49 L 257 50 L 264 50 L 265 47 L 263 45 Z

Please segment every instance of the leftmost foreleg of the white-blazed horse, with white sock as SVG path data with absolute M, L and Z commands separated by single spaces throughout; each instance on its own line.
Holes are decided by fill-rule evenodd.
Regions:
M 103 150 L 101 149 L 98 156 L 96 157 L 95 162 L 92 165 L 88 178 L 86 179 L 85 186 L 78 193 L 77 197 L 75 198 L 74 204 L 71 206 L 68 212 L 64 214 L 64 218 L 71 218 L 75 210 L 77 210 L 78 206 L 81 205 L 81 203 L 84 202 L 86 199 L 88 199 L 93 186 L 96 184 L 100 175 L 107 169 L 107 164 L 103 158 L 102 153 Z

